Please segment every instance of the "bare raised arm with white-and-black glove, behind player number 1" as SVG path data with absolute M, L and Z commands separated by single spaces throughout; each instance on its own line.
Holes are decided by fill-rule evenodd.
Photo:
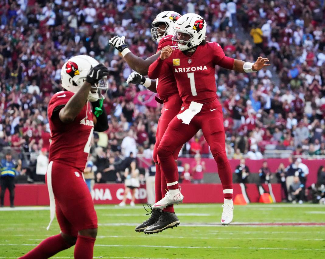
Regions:
M 115 36 L 109 40 L 109 44 L 116 48 L 123 55 L 126 63 L 140 75 L 148 75 L 149 66 L 159 57 L 160 52 L 152 55 L 147 59 L 142 59 L 134 55 L 127 44 L 125 44 L 125 37 Z

